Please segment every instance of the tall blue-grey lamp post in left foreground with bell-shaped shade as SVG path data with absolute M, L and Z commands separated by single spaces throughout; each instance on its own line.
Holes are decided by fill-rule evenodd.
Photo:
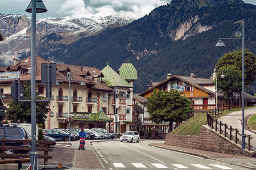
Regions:
M 36 80 L 35 80 L 35 46 L 36 46 L 36 13 L 46 12 L 42 0 L 31 0 L 26 12 L 31 14 L 31 169 L 38 169 L 38 153 L 36 153 Z

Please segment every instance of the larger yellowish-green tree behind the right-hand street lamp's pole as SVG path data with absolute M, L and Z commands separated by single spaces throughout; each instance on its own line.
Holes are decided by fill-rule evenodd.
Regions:
M 252 52 L 248 52 L 248 49 L 245 49 L 245 87 L 248 86 L 250 83 L 252 83 L 256 79 L 255 58 L 256 56 Z M 219 69 L 220 67 L 228 66 L 228 65 L 234 65 L 236 66 L 237 70 L 242 71 L 242 49 L 224 54 L 223 57 L 218 59 L 218 62 L 215 68 Z M 242 84 L 242 78 L 241 78 L 241 84 Z M 241 104 L 242 88 L 239 91 L 239 94 L 240 94 L 240 104 Z

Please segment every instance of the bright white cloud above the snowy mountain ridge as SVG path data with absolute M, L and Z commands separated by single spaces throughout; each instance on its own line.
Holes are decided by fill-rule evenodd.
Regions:
M 65 0 L 57 14 L 88 18 L 121 14 L 138 19 L 168 2 L 170 0 Z

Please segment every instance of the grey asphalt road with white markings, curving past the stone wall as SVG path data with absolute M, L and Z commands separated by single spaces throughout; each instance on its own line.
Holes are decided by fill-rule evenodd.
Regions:
M 148 146 L 164 141 L 96 142 L 93 148 L 106 169 L 246 169 L 237 165 L 203 159 L 170 150 Z

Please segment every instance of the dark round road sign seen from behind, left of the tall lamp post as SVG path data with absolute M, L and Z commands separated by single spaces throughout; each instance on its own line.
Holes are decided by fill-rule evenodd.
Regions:
M 19 88 L 20 92 L 18 94 L 18 82 L 19 82 Z M 11 97 L 13 97 L 14 101 L 23 100 L 25 94 L 25 88 L 22 84 L 22 82 L 18 80 L 14 80 L 13 83 L 11 83 Z

